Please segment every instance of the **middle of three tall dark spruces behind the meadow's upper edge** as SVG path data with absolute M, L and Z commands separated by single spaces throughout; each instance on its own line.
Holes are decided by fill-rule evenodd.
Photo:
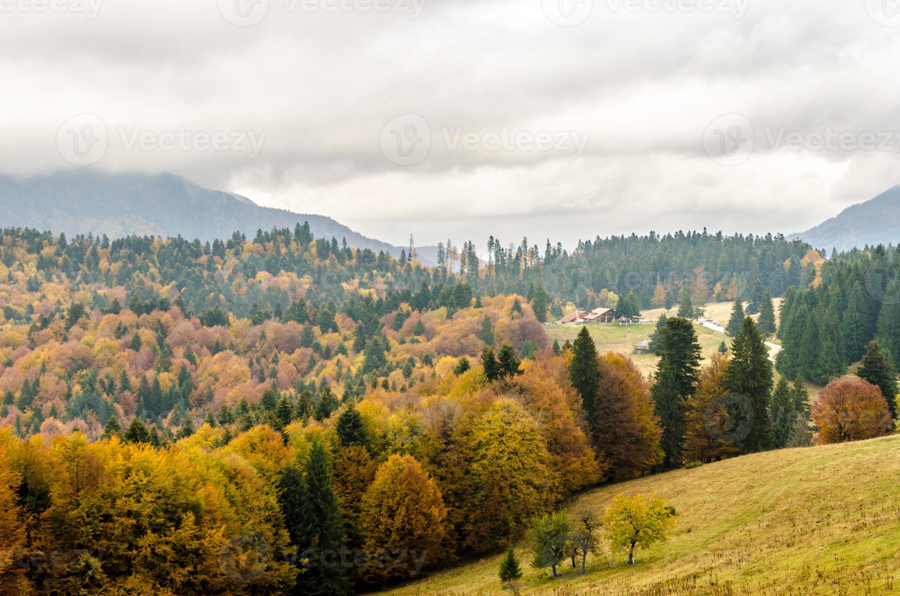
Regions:
M 656 354 L 660 364 L 654 375 L 653 401 L 662 421 L 662 465 L 671 469 L 681 464 L 684 402 L 694 393 L 700 367 L 700 344 L 694 325 L 683 317 L 667 321 Z

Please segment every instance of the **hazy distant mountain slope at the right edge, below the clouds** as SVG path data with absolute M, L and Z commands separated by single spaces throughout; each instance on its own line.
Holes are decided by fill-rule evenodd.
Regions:
M 900 186 L 851 205 L 815 228 L 790 237 L 797 238 L 817 248 L 838 250 L 900 243 Z

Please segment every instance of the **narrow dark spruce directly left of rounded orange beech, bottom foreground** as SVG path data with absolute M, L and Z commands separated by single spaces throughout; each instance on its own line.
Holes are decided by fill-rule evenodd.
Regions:
M 312 445 L 306 466 L 306 484 L 310 493 L 311 519 L 314 520 L 313 532 L 318 537 L 317 544 L 311 548 L 319 554 L 325 551 L 338 553 L 344 542 L 344 520 L 338 506 L 338 495 L 331 484 L 328 455 L 318 441 Z M 302 577 L 305 575 L 309 577 Z M 319 564 L 307 569 L 301 577 L 306 584 L 306 590 L 302 593 L 311 596 L 345 596 L 352 587 L 347 569 L 340 564 Z

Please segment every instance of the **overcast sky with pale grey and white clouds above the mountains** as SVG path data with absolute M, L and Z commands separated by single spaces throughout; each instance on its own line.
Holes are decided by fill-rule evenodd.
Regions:
M 894 0 L 0 0 L 0 170 L 169 171 L 398 244 L 796 232 L 900 184 L 895 22 Z

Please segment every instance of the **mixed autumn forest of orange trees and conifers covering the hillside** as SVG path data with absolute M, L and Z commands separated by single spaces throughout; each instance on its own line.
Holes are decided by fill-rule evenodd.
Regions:
M 211 243 L 4 230 L 0 591 L 347 594 L 496 552 L 597 483 L 809 444 L 806 393 L 773 387 L 749 317 L 701 367 L 683 302 L 652 379 L 541 324 L 625 291 L 640 308 L 724 300 L 747 275 L 822 283 L 805 245 L 464 248 L 451 273 L 452 251 L 426 267 L 308 224 Z M 740 436 L 725 393 L 755 417 Z

